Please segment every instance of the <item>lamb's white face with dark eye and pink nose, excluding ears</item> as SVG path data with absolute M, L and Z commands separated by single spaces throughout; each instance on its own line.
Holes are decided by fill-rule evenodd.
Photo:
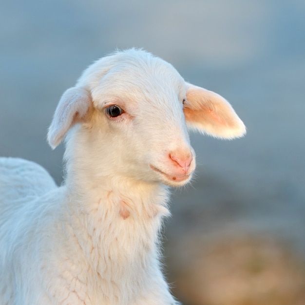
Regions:
M 170 64 L 151 59 L 116 66 L 95 80 L 97 125 L 108 135 L 101 145 L 111 148 L 122 174 L 181 186 L 195 169 L 183 113 L 186 83 Z

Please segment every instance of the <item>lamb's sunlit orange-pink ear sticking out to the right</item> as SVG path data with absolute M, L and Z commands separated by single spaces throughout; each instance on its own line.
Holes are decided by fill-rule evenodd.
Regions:
M 188 127 L 214 137 L 232 139 L 246 133 L 244 123 L 226 99 L 189 83 L 184 115 Z

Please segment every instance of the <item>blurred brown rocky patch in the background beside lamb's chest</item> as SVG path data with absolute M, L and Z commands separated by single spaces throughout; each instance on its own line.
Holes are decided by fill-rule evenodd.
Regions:
M 168 241 L 167 254 L 173 293 L 185 305 L 305 304 L 305 261 L 280 239 L 185 236 Z

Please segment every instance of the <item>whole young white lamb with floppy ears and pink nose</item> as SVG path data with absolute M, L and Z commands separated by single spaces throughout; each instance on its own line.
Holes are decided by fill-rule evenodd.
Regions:
M 0 158 L 0 305 L 178 305 L 159 235 L 169 186 L 195 169 L 187 128 L 246 132 L 223 97 L 144 50 L 89 66 L 48 131 L 53 149 L 65 138 L 64 184 Z

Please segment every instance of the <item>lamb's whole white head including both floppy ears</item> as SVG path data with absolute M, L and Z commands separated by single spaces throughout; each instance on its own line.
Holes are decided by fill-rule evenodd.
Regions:
M 90 154 L 96 175 L 114 172 L 171 186 L 187 183 L 195 169 L 188 127 L 220 138 L 246 131 L 223 97 L 135 49 L 99 59 L 62 95 L 48 133 L 51 147 L 72 126 L 68 142 Z

